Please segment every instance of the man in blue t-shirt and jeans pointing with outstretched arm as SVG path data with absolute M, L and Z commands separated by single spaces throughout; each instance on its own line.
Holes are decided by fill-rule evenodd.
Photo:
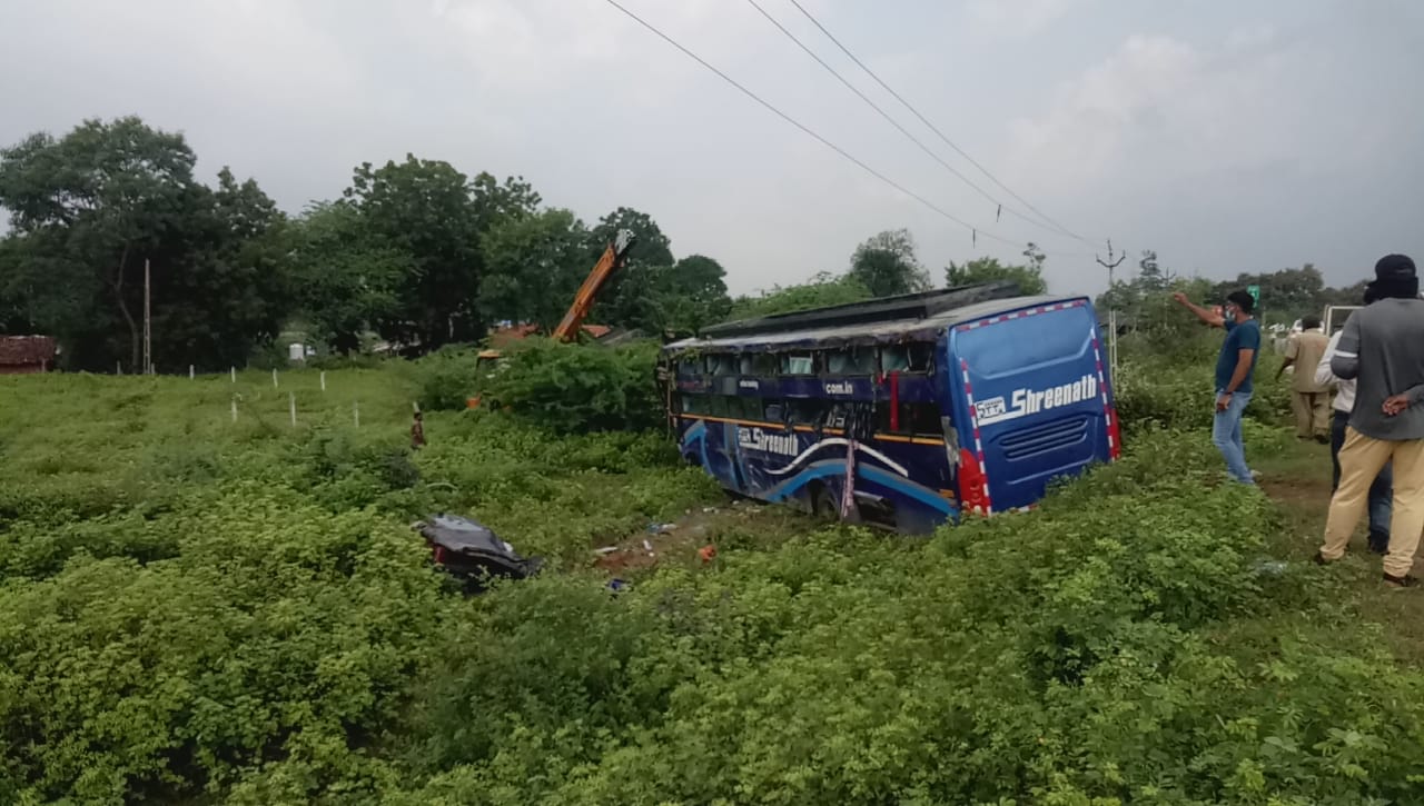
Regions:
M 1260 355 L 1260 325 L 1252 319 L 1256 299 L 1245 291 L 1233 291 L 1226 296 L 1222 313 L 1193 305 L 1185 293 L 1173 293 L 1173 299 L 1213 328 L 1226 329 L 1226 340 L 1216 357 L 1216 419 L 1212 423 L 1212 444 L 1222 451 L 1226 471 L 1242 484 L 1255 484 L 1256 478 L 1246 467 L 1246 446 L 1242 444 L 1242 414 L 1252 396 L 1252 375 L 1256 372 L 1256 357 Z

